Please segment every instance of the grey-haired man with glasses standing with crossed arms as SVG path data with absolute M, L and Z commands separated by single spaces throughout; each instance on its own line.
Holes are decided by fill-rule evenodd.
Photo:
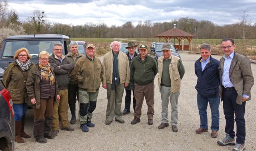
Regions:
M 68 92 L 67 85 L 69 83 L 68 74 L 73 70 L 74 64 L 65 57 L 62 53 L 62 43 L 53 44 L 52 55 L 49 57 L 49 63 L 54 68 L 54 73 L 58 82 L 58 90 L 60 100 L 54 102 L 53 105 L 53 120 L 52 120 L 52 134 L 58 135 L 59 116 L 61 119 L 61 130 L 74 131 L 68 122 Z M 58 115 L 59 113 L 59 115 Z

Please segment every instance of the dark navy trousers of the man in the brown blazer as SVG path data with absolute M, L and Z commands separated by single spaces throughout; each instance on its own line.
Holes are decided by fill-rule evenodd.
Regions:
M 226 119 L 225 132 L 235 138 L 234 123 L 236 120 L 236 143 L 244 144 L 245 141 L 245 102 L 242 105 L 236 103 L 237 93 L 235 88 L 227 90 L 223 88 L 223 111 Z M 235 114 L 235 118 L 234 118 Z

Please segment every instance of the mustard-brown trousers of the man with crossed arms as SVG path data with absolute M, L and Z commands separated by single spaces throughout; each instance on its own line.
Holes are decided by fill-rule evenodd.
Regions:
M 68 127 L 68 93 L 67 89 L 59 91 L 60 100 L 56 100 L 53 104 L 53 120 L 52 120 L 52 130 L 58 130 L 59 125 L 59 118 L 61 117 L 61 127 L 65 128 Z M 58 114 L 59 113 L 59 114 Z

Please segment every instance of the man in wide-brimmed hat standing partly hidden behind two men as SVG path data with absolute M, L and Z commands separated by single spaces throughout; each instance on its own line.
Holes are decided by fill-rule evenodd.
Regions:
M 135 49 L 138 45 L 135 45 L 134 42 L 130 42 L 128 43 L 128 46 L 125 47 L 126 49 L 128 49 L 128 53 L 126 54 L 129 60 L 129 66 L 130 66 L 130 71 L 131 71 L 131 60 L 133 60 L 134 57 L 136 57 L 138 54 L 137 52 L 135 52 Z M 129 114 L 131 113 L 130 111 L 130 106 L 131 106 L 131 91 L 133 94 L 133 108 L 135 111 L 135 106 L 136 106 L 136 99 L 134 96 L 134 80 L 132 77 L 130 77 L 130 83 L 127 87 L 125 87 L 125 109 L 124 111 L 122 111 L 122 114 Z

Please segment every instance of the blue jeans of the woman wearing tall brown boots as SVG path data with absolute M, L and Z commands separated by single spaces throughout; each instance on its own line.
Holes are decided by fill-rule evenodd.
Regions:
M 15 121 L 21 121 L 23 115 L 26 114 L 26 110 L 28 109 L 27 103 L 21 104 L 13 104 L 14 109 L 14 119 Z

